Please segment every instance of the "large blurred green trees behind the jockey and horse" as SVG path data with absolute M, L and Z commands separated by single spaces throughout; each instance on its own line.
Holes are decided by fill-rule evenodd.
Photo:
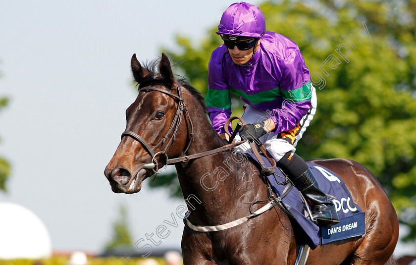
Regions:
M 297 153 L 364 164 L 410 226 L 408 239 L 415 238 L 416 0 L 267 1 L 260 9 L 267 30 L 298 44 L 319 88 L 316 115 Z M 221 44 L 215 31 L 196 45 L 178 36 L 178 53 L 164 49 L 174 60 L 185 60 L 178 67 L 203 94 L 210 54 Z M 240 114 L 235 102 L 233 114 Z M 157 184 L 176 185 L 172 176 L 165 180 Z

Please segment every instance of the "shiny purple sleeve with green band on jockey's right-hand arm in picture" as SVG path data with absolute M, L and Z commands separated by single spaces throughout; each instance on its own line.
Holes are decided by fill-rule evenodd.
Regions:
M 280 108 L 273 109 L 269 114 L 276 127 L 274 133 L 294 129 L 312 107 L 311 94 L 304 94 L 310 86 L 309 69 L 299 50 L 285 59 L 280 80 L 279 87 L 284 101 Z

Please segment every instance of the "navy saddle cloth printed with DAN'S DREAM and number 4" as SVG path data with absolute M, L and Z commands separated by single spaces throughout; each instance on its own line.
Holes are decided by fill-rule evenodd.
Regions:
M 245 155 L 257 161 L 253 153 L 246 153 Z M 270 162 L 263 156 L 261 157 L 266 167 L 270 167 Z M 318 245 L 363 235 L 365 233 L 365 213 L 361 210 L 360 206 L 353 202 L 344 180 L 328 168 L 311 162 L 307 162 L 307 164 L 311 168 L 322 191 L 336 197 L 335 200 L 329 200 L 335 204 L 340 222 L 336 225 L 326 227 L 319 227 L 314 224 L 304 215 L 304 204 L 299 195 L 299 191 L 296 187 L 293 187 L 282 199 L 282 204 L 293 215 L 300 228 L 304 230 L 305 236 L 302 238 L 304 241 L 303 244 L 307 244 L 311 249 L 315 249 Z M 278 167 L 275 169 L 275 175 L 277 176 L 270 175 L 267 176 L 267 179 L 273 191 L 277 196 L 280 196 L 285 186 L 278 185 L 277 181 L 283 182 L 285 179 L 280 169 Z

